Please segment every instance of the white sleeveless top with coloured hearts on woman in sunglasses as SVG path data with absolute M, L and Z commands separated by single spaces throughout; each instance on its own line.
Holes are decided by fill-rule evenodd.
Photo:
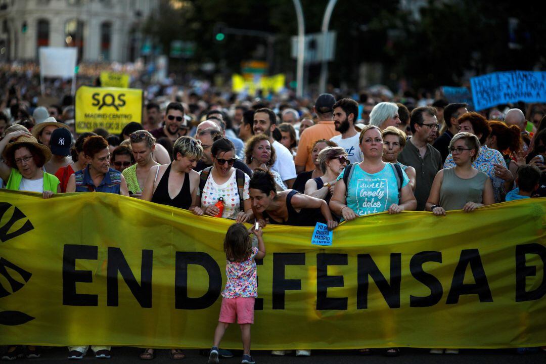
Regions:
M 248 184 L 250 183 L 250 177 L 245 173 L 245 186 L 243 188 L 242 199 L 250 199 L 248 195 Z M 199 191 L 197 192 L 199 194 Z M 226 219 L 235 219 L 237 214 L 241 212 L 239 189 L 237 188 L 237 177 L 235 176 L 235 169 L 232 170 L 232 175 L 223 184 L 218 184 L 212 177 L 212 170 L 209 177 L 206 180 L 205 187 L 203 187 L 203 196 L 201 197 L 201 208 L 205 208 L 215 205 L 219 198 L 224 199 L 224 211 L 222 217 Z

